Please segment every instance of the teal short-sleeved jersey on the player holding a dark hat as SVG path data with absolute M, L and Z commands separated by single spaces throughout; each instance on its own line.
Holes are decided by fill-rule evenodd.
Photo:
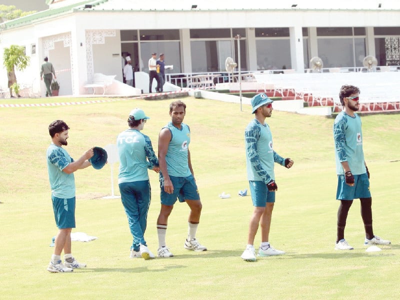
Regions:
M 64 148 L 53 143 L 48 146 L 46 157 L 51 194 L 61 199 L 73 198 L 75 196 L 75 177 L 73 173 L 67 174 L 62 171 L 73 159 Z

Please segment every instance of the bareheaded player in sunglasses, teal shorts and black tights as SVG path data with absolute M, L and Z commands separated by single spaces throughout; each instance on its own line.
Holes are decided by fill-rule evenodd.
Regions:
M 359 88 L 343 85 L 339 98 L 344 110 L 339 112 L 333 124 L 335 148 L 337 190 L 336 199 L 340 200 L 337 211 L 336 250 L 353 249 L 344 239 L 344 227 L 348 210 L 354 198 L 361 203 L 361 217 L 364 223 L 364 244 L 390 244 L 373 234 L 372 198 L 369 191 L 369 171 L 362 149 L 361 119 L 355 111 L 359 108 Z

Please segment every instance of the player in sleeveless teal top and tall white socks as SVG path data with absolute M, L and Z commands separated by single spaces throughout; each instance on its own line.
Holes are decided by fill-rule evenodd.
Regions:
M 169 105 L 171 121 L 166 124 L 158 136 L 158 160 L 160 168 L 161 209 L 157 218 L 159 257 L 171 257 L 165 243 L 168 216 L 177 199 L 186 202 L 190 208 L 188 234 L 183 244 L 187 250 L 205 251 L 207 248 L 196 239 L 202 204 L 198 193 L 194 172 L 190 160 L 190 128 L 183 123 L 186 104 L 180 100 Z

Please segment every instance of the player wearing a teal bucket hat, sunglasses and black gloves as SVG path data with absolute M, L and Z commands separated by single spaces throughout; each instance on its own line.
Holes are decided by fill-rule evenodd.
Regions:
M 273 168 L 275 162 L 287 168 L 293 165 L 293 160 L 283 158 L 273 150 L 272 134 L 265 123 L 265 118 L 270 117 L 272 113 L 272 100 L 266 94 L 259 93 L 251 98 L 251 107 L 255 118 L 248 123 L 244 131 L 247 179 L 254 206 L 248 226 L 247 246 L 241 254 L 241 258 L 247 261 L 256 260 L 254 238 L 258 223 L 261 226 L 258 256 L 284 254 L 269 244 L 272 209 L 278 189 Z

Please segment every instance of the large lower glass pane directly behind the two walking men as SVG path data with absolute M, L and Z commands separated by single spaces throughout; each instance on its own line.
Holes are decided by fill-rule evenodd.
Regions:
M 179 41 L 151 41 L 140 42 L 140 70 L 148 72 L 148 59 L 151 53 L 156 52 L 165 55 L 165 65 L 173 65 L 173 70 L 166 69 L 165 73 L 180 73 L 180 46 Z

